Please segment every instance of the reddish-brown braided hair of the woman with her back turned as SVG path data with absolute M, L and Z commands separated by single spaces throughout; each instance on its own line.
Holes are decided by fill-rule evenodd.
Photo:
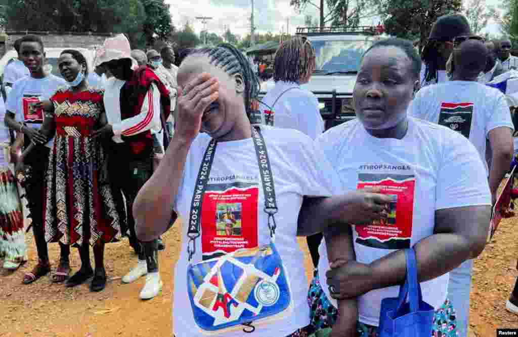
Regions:
M 314 69 L 315 51 L 307 39 L 296 36 L 275 53 L 274 81 L 298 83 Z

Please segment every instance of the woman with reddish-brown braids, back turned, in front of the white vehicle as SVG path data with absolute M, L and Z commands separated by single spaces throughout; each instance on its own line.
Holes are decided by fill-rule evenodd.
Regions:
M 263 98 L 264 116 L 271 111 L 274 125 L 296 129 L 316 139 L 324 131 L 319 101 L 311 91 L 300 85 L 309 82 L 315 69 L 315 50 L 309 40 L 301 37 L 284 42 L 275 54 L 273 87 Z M 307 237 L 313 265 L 319 264 L 319 245 L 322 234 Z

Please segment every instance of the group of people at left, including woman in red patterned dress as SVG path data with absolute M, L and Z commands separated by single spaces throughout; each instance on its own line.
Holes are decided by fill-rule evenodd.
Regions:
M 38 253 L 38 263 L 25 274 L 24 284 L 51 271 L 47 243 L 59 242 L 60 260 L 52 281 L 74 287 L 91 279 L 92 291 L 103 290 L 104 245 L 126 235 L 138 261 L 123 282 L 147 275 L 140 297 L 153 298 L 162 287 L 157 251 L 163 244 L 159 239 L 137 239 L 131 210 L 172 136 L 174 51 L 165 46 L 161 54 L 148 51 L 149 60 L 143 51 L 142 57 L 132 58 L 138 50 L 132 51 L 127 38 L 118 35 L 97 50 L 92 73 L 79 51 L 64 50 L 57 62 L 61 78 L 46 72 L 45 48 L 38 36 L 20 38 L 15 48 L 18 59 L 5 69 L 7 99 L 2 104 L 5 148 L 10 143 L 8 129 L 20 139 L 3 157 L 3 191 L 8 198 L 3 200 L 10 200 L 0 245 L 4 268 L 17 269 L 27 260 L 15 178 L 20 174 Z M 9 170 L 11 162 L 16 166 Z M 78 248 L 81 267 L 70 276 L 71 246 Z

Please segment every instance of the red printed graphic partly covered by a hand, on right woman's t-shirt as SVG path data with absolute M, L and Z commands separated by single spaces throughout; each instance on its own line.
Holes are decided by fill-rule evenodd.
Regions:
M 392 197 L 387 207 L 387 218 L 370 225 L 355 226 L 358 244 L 381 249 L 405 249 L 410 247 L 414 205 L 415 178 L 401 174 L 358 174 L 358 190 L 365 187 L 381 187 L 381 194 Z

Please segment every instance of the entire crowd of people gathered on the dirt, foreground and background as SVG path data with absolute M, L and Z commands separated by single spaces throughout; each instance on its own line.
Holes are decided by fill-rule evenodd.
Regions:
M 45 71 L 39 37 L 15 47 L 0 99 L 0 254 L 7 269 L 27 260 L 23 187 L 38 254 L 24 284 L 51 271 L 58 242 L 52 280 L 103 290 L 104 247 L 128 236 L 138 260 L 122 281 L 146 275 L 151 299 L 160 236 L 180 216 L 177 337 L 377 337 L 410 248 L 431 337 L 467 336 L 473 259 L 514 154 L 508 100 L 492 87 L 516 68 L 509 41 L 485 42 L 462 15 L 440 17 L 421 56 L 382 39 L 358 69 L 357 118 L 325 132 L 301 87 L 315 68 L 305 38 L 281 44 L 261 100 L 256 67 L 229 44 L 186 51 L 177 68 L 170 46 L 131 50 L 120 34 L 93 72 L 64 50 L 63 78 Z M 518 314 L 518 280 L 506 307 Z

